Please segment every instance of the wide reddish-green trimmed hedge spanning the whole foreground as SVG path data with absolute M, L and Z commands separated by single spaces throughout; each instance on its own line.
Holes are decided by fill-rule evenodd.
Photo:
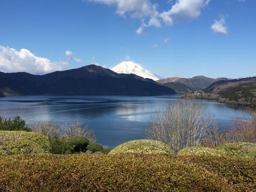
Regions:
M 0 157 L 0 191 L 253 191 L 256 159 L 164 154 Z

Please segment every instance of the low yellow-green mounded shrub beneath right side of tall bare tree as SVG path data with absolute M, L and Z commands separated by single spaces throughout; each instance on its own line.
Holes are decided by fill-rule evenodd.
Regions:
M 208 147 L 187 147 L 179 151 L 178 155 L 224 155 L 223 150 Z

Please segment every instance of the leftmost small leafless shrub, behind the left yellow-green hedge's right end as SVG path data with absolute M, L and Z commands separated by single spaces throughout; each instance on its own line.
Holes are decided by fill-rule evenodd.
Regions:
M 48 139 L 53 139 L 55 136 L 58 136 L 60 132 L 60 124 L 54 123 L 51 121 L 40 121 L 34 122 L 31 121 L 31 128 L 35 132 L 40 132 Z

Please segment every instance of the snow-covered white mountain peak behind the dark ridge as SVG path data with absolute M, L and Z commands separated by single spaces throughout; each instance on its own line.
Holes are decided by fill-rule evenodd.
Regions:
M 164 79 L 164 77 L 153 74 L 147 69 L 142 68 L 139 64 L 133 63 L 131 61 L 123 61 L 122 63 L 119 63 L 116 67 L 113 67 L 111 70 L 115 71 L 116 73 L 133 73 L 144 78 L 153 79 L 154 81 Z

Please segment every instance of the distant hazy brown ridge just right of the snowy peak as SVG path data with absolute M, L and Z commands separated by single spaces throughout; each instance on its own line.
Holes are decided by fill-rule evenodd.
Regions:
M 166 79 L 160 79 L 156 82 L 159 84 L 166 84 L 170 82 L 179 82 L 181 84 L 187 85 L 188 87 L 194 88 L 194 89 L 205 89 L 212 83 L 220 80 L 231 80 L 225 77 L 213 79 L 205 76 L 195 76 L 193 78 L 180 78 L 180 77 L 171 77 Z

